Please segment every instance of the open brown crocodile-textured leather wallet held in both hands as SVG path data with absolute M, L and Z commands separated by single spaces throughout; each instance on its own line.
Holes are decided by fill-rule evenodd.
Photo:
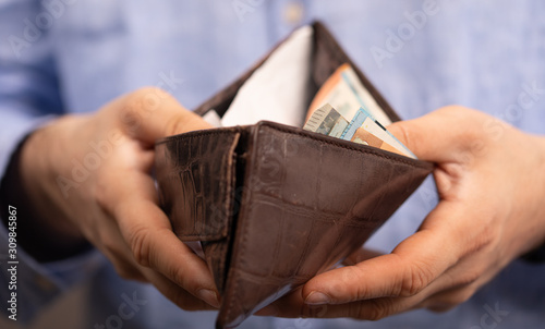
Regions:
M 349 63 L 398 121 L 325 26 L 317 22 L 312 29 L 307 95 Z M 269 56 L 196 112 L 214 109 L 222 117 Z M 221 297 L 217 328 L 237 327 L 339 264 L 432 170 L 426 161 L 270 121 L 156 143 L 160 204 L 181 241 L 202 244 Z

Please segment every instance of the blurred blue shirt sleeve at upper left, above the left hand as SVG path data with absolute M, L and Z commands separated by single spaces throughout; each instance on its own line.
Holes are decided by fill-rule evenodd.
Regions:
M 0 2 L 0 173 L 31 131 L 63 112 L 38 1 Z M 41 15 L 46 16 L 46 15 Z

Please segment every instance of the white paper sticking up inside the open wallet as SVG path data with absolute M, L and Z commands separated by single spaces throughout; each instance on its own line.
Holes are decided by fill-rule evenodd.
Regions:
M 302 126 L 308 100 L 314 31 L 296 29 L 254 71 L 221 119 L 222 126 L 261 120 Z

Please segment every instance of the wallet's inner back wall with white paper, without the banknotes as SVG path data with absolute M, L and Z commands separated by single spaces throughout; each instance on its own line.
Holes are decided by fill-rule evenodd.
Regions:
M 215 110 L 222 118 L 223 126 L 255 124 L 262 120 L 302 126 L 314 95 L 343 63 L 354 68 L 388 119 L 398 121 L 397 113 L 319 22 L 295 31 L 195 112 L 205 115 Z

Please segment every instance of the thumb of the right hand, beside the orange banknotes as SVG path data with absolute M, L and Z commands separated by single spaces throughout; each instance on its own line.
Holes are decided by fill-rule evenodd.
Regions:
M 477 121 L 465 119 L 470 112 L 483 115 L 462 107 L 446 107 L 419 119 L 395 122 L 387 129 L 420 159 L 449 162 L 473 145 L 475 132 L 483 130 Z

